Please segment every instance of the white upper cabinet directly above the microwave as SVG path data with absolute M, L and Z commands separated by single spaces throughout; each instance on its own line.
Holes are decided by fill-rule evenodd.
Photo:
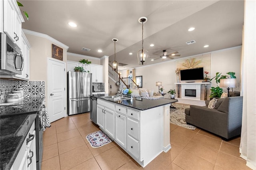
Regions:
M 3 1 L 4 28 L 3 31 L 21 49 L 21 23 L 24 22 L 16 0 Z

